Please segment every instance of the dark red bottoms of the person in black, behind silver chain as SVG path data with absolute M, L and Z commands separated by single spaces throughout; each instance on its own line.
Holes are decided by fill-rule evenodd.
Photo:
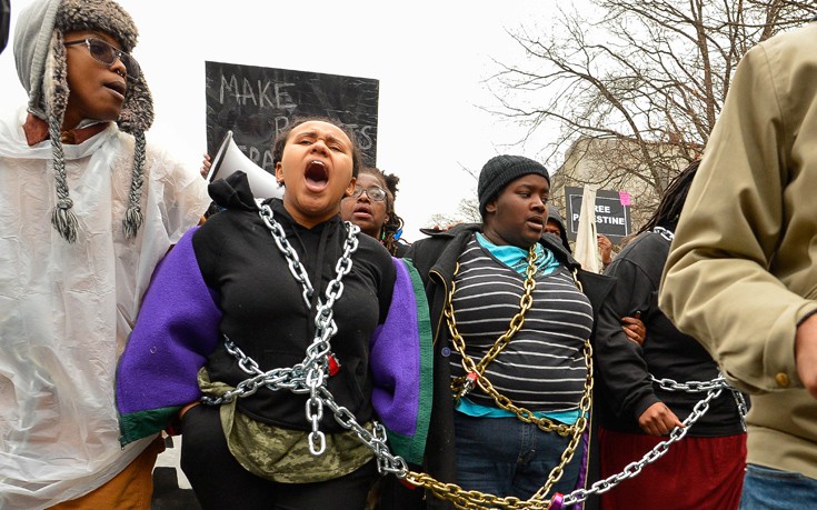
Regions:
M 621 472 L 668 437 L 599 430 L 601 477 Z M 746 468 L 746 434 L 689 438 L 672 443 L 646 466 L 601 496 L 602 510 L 729 510 L 740 503 Z

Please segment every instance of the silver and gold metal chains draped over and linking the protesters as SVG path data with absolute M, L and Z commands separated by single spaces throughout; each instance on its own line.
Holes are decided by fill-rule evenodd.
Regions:
M 265 222 L 268 224 L 268 227 L 270 227 L 270 223 L 272 224 L 270 227 L 270 232 L 276 239 L 276 243 L 278 244 L 281 252 L 285 254 L 285 257 L 287 257 L 290 272 L 292 272 L 296 280 L 298 280 L 303 287 L 302 296 L 307 307 L 309 308 L 309 300 L 311 299 L 312 294 L 309 278 L 303 270 L 303 267 L 300 264 L 300 261 L 297 258 L 297 253 L 287 242 L 286 237 L 282 237 L 282 242 L 279 243 L 279 241 L 281 241 L 279 237 L 283 236 L 282 229 L 278 231 L 275 228 L 276 226 L 278 226 L 278 228 L 280 229 L 280 224 L 272 220 L 271 210 L 269 211 L 269 220 L 270 221 L 268 222 L 267 219 L 265 219 Z M 359 229 L 357 227 L 349 228 L 349 236 L 345 243 L 343 257 L 338 261 L 336 266 L 338 276 L 327 287 L 327 302 L 322 303 L 320 300 L 318 300 L 319 306 L 317 307 L 315 318 L 316 327 L 318 329 L 316 330 L 315 340 L 307 349 L 307 357 L 303 362 L 290 368 L 273 369 L 263 372 L 260 370 L 258 363 L 255 360 L 248 357 L 243 351 L 241 351 L 238 346 L 236 346 L 229 338 L 225 336 L 225 348 L 227 349 L 227 351 L 238 360 L 238 366 L 241 368 L 241 370 L 252 377 L 241 381 L 235 390 L 228 391 L 219 398 L 203 397 L 202 401 L 205 403 L 220 404 L 229 402 L 235 398 L 249 397 L 250 394 L 253 394 L 256 391 L 258 391 L 258 389 L 261 387 L 269 388 L 270 390 L 288 389 L 293 393 L 308 392 L 310 394 L 310 398 L 306 402 L 306 416 L 307 420 L 312 422 L 312 432 L 309 434 L 309 447 L 312 454 L 321 454 L 326 446 L 323 433 L 317 430 L 316 427 L 317 422 L 320 421 L 320 419 L 322 418 L 323 407 L 326 407 L 332 412 L 335 420 L 341 427 L 347 430 L 353 431 L 358 439 L 372 451 L 375 458 L 377 459 L 378 469 L 381 473 L 393 473 L 397 478 L 402 479 L 412 486 L 428 489 L 429 491 L 431 491 L 431 493 L 434 493 L 435 497 L 448 500 L 456 508 L 465 510 L 482 510 L 489 507 L 505 508 L 508 510 L 548 510 L 551 508 L 560 509 L 562 507 L 580 503 L 594 493 L 600 494 L 607 492 L 619 484 L 621 481 L 636 477 L 647 464 L 658 460 L 667 452 L 672 443 L 680 441 L 686 436 L 689 427 L 691 427 L 696 421 L 698 421 L 698 419 L 700 419 L 700 417 L 703 417 L 707 412 L 707 410 L 709 409 L 709 403 L 714 399 L 718 398 L 724 389 L 733 391 L 733 393 L 736 394 L 736 401 L 739 397 L 738 410 L 740 411 L 741 418 L 746 413 L 746 403 L 743 399 L 743 394 L 731 388 L 723 378 L 723 376 L 719 376 L 711 381 L 688 381 L 685 383 L 679 383 L 671 379 L 654 378 L 654 382 L 665 390 L 687 391 L 694 393 L 706 391 L 707 396 L 695 404 L 693 412 L 684 420 L 684 428 L 677 427 L 672 429 L 669 434 L 669 439 L 658 443 L 652 450 L 647 452 L 638 461 L 627 464 L 620 473 L 614 474 L 604 480 L 599 480 L 595 482 L 589 489 L 577 489 L 566 496 L 555 494 L 550 500 L 546 500 L 544 498 L 545 494 L 547 494 L 552 484 L 555 484 L 561 478 L 564 467 L 571 460 L 572 454 L 578 446 L 578 441 L 581 438 L 581 433 L 587 426 L 586 416 L 587 411 L 590 408 L 590 396 L 592 390 L 592 350 L 590 347 L 590 342 L 587 341 L 585 343 L 585 359 L 588 367 L 588 374 L 585 382 L 585 394 L 582 394 L 579 404 L 579 408 L 581 410 L 580 418 L 575 426 L 568 428 L 569 430 L 567 431 L 567 433 L 562 434 L 567 436 L 571 433 L 571 438 L 568 447 L 561 454 L 559 464 L 554 468 L 554 470 L 551 470 L 546 483 L 529 500 L 520 500 L 515 497 L 499 497 L 476 490 L 465 490 L 456 483 L 440 482 L 427 473 L 410 471 L 408 469 L 408 466 L 406 464 L 406 461 L 401 457 L 393 456 L 390 452 L 387 443 L 386 431 L 382 424 L 373 422 L 372 430 L 367 430 L 365 427 L 357 422 L 355 416 L 348 409 L 339 406 L 335 401 L 333 396 L 326 386 L 326 376 L 328 373 L 328 363 L 326 356 L 330 353 L 329 339 L 332 334 L 335 334 L 337 330 L 337 327 L 331 319 L 331 304 L 333 304 L 333 302 L 342 293 L 342 283 L 340 282 L 340 279 L 343 274 L 347 274 L 349 270 L 351 270 L 351 253 L 355 251 L 355 249 L 357 249 L 356 236 L 358 231 Z M 348 259 L 348 261 L 345 261 L 346 259 Z M 530 268 L 528 268 L 528 270 Z M 454 289 L 451 293 L 452 292 Z M 521 312 L 521 314 L 524 316 L 524 312 Z M 456 331 L 456 322 L 454 323 Z M 521 321 L 519 323 L 519 327 L 521 327 Z M 455 333 L 455 331 L 452 331 L 452 334 Z M 456 337 L 459 336 L 456 334 Z M 461 337 L 459 338 L 461 339 Z M 465 351 L 465 349 L 462 350 Z M 500 351 L 501 348 L 498 349 L 494 356 L 496 357 L 496 354 L 498 354 Z M 471 369 L 479 368 L 477 363 L 474 363 L 474 360 L 470 361 Z M 485 369 L 486 364 L 487 362 L 482 364 L 482 369 Z M 466 369 L 468 370 L 468 367 Z M 480 373 L 480 376 L 476 378 L 476 384 L 478 384 L 487 393 L 494 393 L 495 400 L 497 400 L 497 397 L 499 397 L 497 403 L 501 401 L 505 406 L 507 406 L 504 409 L 511 410 L 519 417 L 520 420 L 525 422 L 536 423 L 542 430 L 557 431 L 558 433 L 558 430 L 556 430 L 557 427 L 550 427 L 547 423 L 540 424 L 540 422 L 538 421 L 539 419 L 534 417 L 531 411 L 516 407 L 509 399 L 500 396 L 496 391 L 496 389 L 494 389 L 491 383 L 486 378 L 481 377 L 481 372 L 477 373 Z M 743 402 L 743 406 L 740 404 L 740 402 Z

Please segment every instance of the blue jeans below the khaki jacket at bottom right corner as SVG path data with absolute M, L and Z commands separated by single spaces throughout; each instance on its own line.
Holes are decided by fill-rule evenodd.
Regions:
M 817 508 L 817 480 L 758 464 L 746 467 L 740 510 Z

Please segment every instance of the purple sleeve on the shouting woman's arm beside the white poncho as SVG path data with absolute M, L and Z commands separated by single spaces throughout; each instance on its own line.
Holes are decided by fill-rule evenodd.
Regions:
M 165 257 L 145 293 L 119 361 L 121 414 L 183 406 L 201 397 L 196 377 L 218 343 L 221 311 L 199 271 L 195 230 Z

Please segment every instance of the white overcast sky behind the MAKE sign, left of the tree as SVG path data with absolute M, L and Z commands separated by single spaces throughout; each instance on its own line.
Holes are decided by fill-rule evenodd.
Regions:
M 17 13 L 30 1 L 12 0 Z M 205 138 L 205 61 L 346 74 L 379 80 L 378 167 L 400 177 L 397 212 L 405 238 L 454 213 L 476 194 L 478 172 L 497 153 L 541 160 L 540 147 L 510 146 L 519 128 L 482 111 L 492 58 L 524 58 L 506 33 L 525 23 L 548 30 L 555 2 L 417 0 L 121 0 L 134 18 L 133 51 L 153 93 L 149 140 L 200 166 Z M 564 2 L 562 2 L 564 3 Z M 567 2 L 570 3 L 570 2 Z M 13 36 L 11 37 L 13 39 Z M 12 41 L 0 54 L 3 114 L 26 102 Z M 552 169 L 551 169 L 552 170 Z

